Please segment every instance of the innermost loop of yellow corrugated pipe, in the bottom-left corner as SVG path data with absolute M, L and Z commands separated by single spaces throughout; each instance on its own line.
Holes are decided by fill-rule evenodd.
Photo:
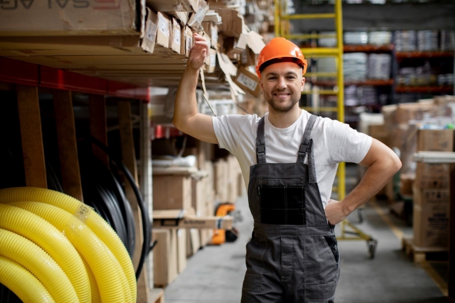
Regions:
M 49 291 L 35 276 L 18 263 L 0 256 L 0 283 L 23 302 L 55 303 Z

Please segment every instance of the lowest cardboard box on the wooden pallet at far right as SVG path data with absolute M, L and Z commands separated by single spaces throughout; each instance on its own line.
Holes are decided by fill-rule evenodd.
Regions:
M 419 247 L 447 247 L 450 216 L 448 189 L 414 187 L 414 243 Z

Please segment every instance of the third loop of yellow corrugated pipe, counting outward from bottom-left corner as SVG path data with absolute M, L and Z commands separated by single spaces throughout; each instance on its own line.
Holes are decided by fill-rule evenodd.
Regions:
M 92 302 L 82 259 L 57 228 L 31 212 L 7 204 L 0 204 L 0 228 L 19 234 L 44 249 L 68 276 L 79 302 Z

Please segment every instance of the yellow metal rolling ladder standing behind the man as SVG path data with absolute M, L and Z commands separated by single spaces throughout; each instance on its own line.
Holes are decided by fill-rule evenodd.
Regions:
M 335 58 L 336 72 L 308 72 L 306 77 L 335 77 L 336 85 L 333 90 L 318 89 L 314 87 L 311 90 L 304 90 L 302 94 L 318 94 L 318 95 L 335 95 L 337 96 L 337 104 L 335 107 L 302 107 L 309 112 L 335 112 L 337 120 L 344 122 L 344 79 L 343 79 L 343 15 L 341 8 L 341 0 L 334 1 L 334 13 L 329 14 L 288 14 L 288 0 L 274 0 L 275 2 L 275 35 L 277 37 L 285 37 L 287 39 L 316 39 L 316 38 L 336 38 L 336 47 L 305 47 L 301 48 L 305 58 Z M 334 19 L 335 34 L 299 34 L 291 33 L 291 20 L 303 19 Z M 337 171 L 338 184 L 333 188 L 337 192 L 338 199 L 342 200 L 346 195 L 345 187 L 345 163 L 338 165 Z M 359 209 L 359 212 L 361 210 Z M 359 213 L 360 221 L 361 213 Z M 371 258 L 374 258 L 377 241 L 368 234 L 362 232 L 349 220 L 344 220 L 340 223 L 341 235 L 338 240 L 366 240 Z M 350 236 L 349 236 L 350 234 Z

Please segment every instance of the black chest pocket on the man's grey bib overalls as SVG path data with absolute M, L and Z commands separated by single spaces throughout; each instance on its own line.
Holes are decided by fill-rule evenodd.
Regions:
M 260 177 L 257 190 L 260 197 L 261 223 L 306 224 L 303 177 Z

